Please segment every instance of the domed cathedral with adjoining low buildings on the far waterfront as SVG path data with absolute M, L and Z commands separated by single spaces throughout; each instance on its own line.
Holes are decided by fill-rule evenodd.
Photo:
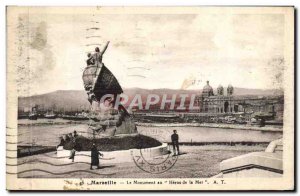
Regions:
M 224 91 L 227 94 L 225 95 Z M 217 88 L 214 95 L 213 88 L 209 85 L 209 81 L 204 86 L 202 95 L 199 96 L 200 113 L 207 115 L 228 115 L 265 112 L 268 114 L 277 113 L 277 118 L 282 117 L 283 96 L 263 97 L 255 95 L 234 95 L 234 88 L 231 84 L 227 89 L 222 85 Z

